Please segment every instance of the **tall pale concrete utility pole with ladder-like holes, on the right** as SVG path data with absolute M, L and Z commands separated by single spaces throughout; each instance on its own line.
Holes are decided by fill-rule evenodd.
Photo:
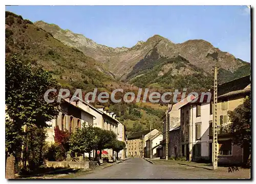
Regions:
M 218 168 L 218 128 L 217 128 L 217 101 L 218 101 L 218 67 L 214 66 L 214 111 L 213 111 L 213 131 L 212 131 L 212 169 Z

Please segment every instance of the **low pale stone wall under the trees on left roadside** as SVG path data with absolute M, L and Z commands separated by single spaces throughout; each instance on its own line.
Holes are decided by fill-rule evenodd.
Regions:
M 46 162 L 47 167 L 70 167 L 72 169 L 93 169 L 98 166 L 97 162 L 72 162 L 72 161 L 48 161 Z

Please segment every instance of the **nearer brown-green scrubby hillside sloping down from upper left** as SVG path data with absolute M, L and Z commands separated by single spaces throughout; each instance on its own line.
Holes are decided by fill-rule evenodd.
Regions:
M 6 12 L 5 28 L 6 60 L 17 54 L 33 67 L 40 65 L 50 71 L 63 88 L 80 88 L 84 93 L 92 92 L 94 88 L 98 88 L 98 93 L 118 88 L 123 89 L 124 93 L 138 90 L 136 86 L 115 80 L 101 63 L 84 55 L 79 49 L 63 44 L 50 32 L 36 27 L 20 15 Z M 152 127 L 161 129 L 161 118 L 166 109 L 165 106 L 149 102 L 120 104 L 109 100 L 104 104 L 97 101 L 92 104 L 95 107 L 103 105 L 106 110 L 115 112 L 126 125 L 127 132 L 133 131 L 135 125 L 145 129 L 152 124 Z

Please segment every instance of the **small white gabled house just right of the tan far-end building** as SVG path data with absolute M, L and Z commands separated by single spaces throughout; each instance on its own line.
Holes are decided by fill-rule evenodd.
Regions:
M 144 148 L 144 157 L 150 158 L 151 154 L 152 157 L 159 157 L 157 154 L 157 147 L 160 145 L 160 141 L 162 140 L 163 134 L 160 131 L 156 135 L 152 135 L 151 138 L 146 141 L 146 147 Z

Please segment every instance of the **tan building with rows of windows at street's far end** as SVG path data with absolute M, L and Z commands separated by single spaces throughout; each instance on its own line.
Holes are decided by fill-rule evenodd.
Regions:
M 152 131 L 144 130 L 129 136 L 127 138 L 127 156 L 143 157 L 146 141 L 150 138 L 150 135 L 156 135 L 158 132 L 157 129 L 153 129 Z

